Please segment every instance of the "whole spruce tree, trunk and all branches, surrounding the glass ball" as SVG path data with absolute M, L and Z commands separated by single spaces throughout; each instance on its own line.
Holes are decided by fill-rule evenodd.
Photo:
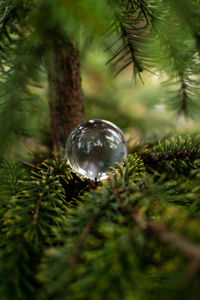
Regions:
M 199 4 L 0 2 L 1 300 L 199 298 L 199 135 L 130 143 L 124 165 L 100 183 L 75 174 L 63 154 L 84 119 L 80 63 L 92 40 L 114 75 L 131 65 L 135 81 L 164 74 L 168 105 L 194 116 Z M 17 149 L 38 134 L 46 86 L 51 139 L 48 126 L 40 137 L 48 154 L 40 147 L 27 162 Z M 129 123 L 117 103 L 115 113 Z

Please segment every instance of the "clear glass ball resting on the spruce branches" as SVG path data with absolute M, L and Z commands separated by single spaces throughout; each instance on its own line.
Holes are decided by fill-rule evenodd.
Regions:
M 128 155 L 122 131 L 105 120 L 90 120 L 79 124 L 67 139 L 66 155 L 77 174 L 100 181 L 108 177 L 110 167 Z

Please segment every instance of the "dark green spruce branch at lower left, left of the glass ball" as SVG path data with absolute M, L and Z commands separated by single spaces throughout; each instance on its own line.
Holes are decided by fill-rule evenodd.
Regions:
M 1 168 L 4 174 L 8 171 Z M 12 178 L 10 188 L 14 186 L 15 190 L 10 192 L 6 208 L 1 202 L 1 299 L 28 299 L 34 295 L 38 286 L 35 274 L 42 253 L 54 243 L 56 228 L 63 226 L 67 207 L 75 202 L 73 197 L 78 201 L 81 189 L 86 188 L 86 184 L 74 178 L 76 189 L 73 186 L 68 189 L 74 176 L 59 158 L 43 162 L 32 171 L 31 180 L 18 179 L 20 188 L 15 174 L 13 169 L 9 175 L 5 174 L 4 178 Z

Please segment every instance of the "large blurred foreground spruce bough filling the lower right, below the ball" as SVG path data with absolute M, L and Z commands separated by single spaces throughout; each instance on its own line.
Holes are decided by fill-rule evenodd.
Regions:
M 188 207 L 181 209 L 179 206 L 174 212 L 173 203 L 181 196 L 183 198 L 186 190 L 182 189 L 178 198 L 177 181 L 173 182 L 173 189 L 172 182 L 164 179 L 158 182 L 153 176 L 142 176 L 140 172 L 137 174 L 142 164 L 139 158 L 135 159 L 125 161 L 125 167 L 119 166 L 109 182 L 87 194 L 84 203 L 69 212 L 62 234 L 66 237 L 62 243 L 64 246 L 49 250 L 43 261 L 39 275 L 39 280 L 45 285 L 43 297 L 54 300 L 67 297 L 90 299 L 92 288 L 94 296 L 105 299 L 109 299 L 110 293 L 115 299 L 126 299 L 134 290 L 141 298 L 149 299 L 150 291 L 153 295 L 160 295 L 155 281 L 159 282 L 162 295 L 171 289 L 176 294 L 177 279 L 175 284 L 172 281 L 172 285 L 168 286 L 168 278 L 180 278 L 186 261 L 182 258 L 179 263 L 175 263 L 173 273 L 171 269 L 166 270 L 168 260 L 170 262 L 174 259 L 176 262 L 179 257 L 177 252 L 171 250 L 172 244 L 186 257 L 191 258 L 195 254 L 199 263 L 199 246 L 182 237 L 181 233 L 175 233 L 176 225 L 180 231 L 178 218 L 188 211 Z M 193 186 L 189 185 L 188 190 L 192 191 Z M 191 199 L 193 196 L 190 196 Z M 185 198 L 183 201 L 188 203 L 189 196 Z M 170 209 L 173 214 L 170 214 Z M 133 217 L 133 212 L 137 210 L 145 216 L 145 229 L 135 221 L 135 215 Z M 166 227 L 158 225 L 159 219 Z M 186 227 L 194 222 L 194 219 L 187 217 L 184 220 Z M 197 215 L 195 220 L 198 225 Z M 172 231 L 166 229 L 167 224 L 170 224 Z M 198 226 L 190 230 L 191 235 L 195 232 L 197 234 Z M 158 239 L 162 243 L 158 243 Z M 156 253 L 159 252 L 161 262 L 156 261 L 155 249 Z M 151 268 L 154 268 L 153 274 Z M 139 278 L 139 284 L 136 278 Z

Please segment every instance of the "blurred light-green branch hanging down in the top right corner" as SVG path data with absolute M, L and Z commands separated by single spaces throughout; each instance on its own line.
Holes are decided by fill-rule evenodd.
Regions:
M 155 17 L 148 44 L 150 60 L 156 70 L 168 75 L 164 86 L 172 110 L 191 115 L 190 109 L 194 113 L 199 98 L 199 45 L 192 25 L 199 14 L 197 1 L 189 7 L 187 1 L 150 2 Z

